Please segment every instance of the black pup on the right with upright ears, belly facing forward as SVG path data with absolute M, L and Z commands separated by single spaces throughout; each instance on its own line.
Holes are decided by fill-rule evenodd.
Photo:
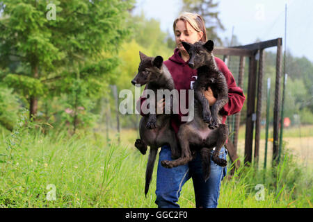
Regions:
M 211 40 L 206 43 L 188 44 L 182 42 L 189 53 L 189 67 L 197 69 L 198 78 L 195 81 L 195 117 L 192 121 L 182 124 L 177 133 L 179 145 L 182 148 L 181 157 L 173 161 L 162 161 L 163 167 L 177 167 L 191 161 L 191 148 L 200 148 L 204 180 L 209 178 L 211 149 L 215 148 L 212 160 L 221 167 L 227 161 L 218 157 L 220 148 L 228 137 L 228 127 L 221 124 L 222 116 L 219 111 L 228 102 L 228 87 L 225 76 L 218 70 L 212 54 L 214 44 Z M 216 103 L 209 108 L 209 101 L 204 97 L 204 90 L 211 87 Z M 209 123 L 209 128 L 207 123 Z

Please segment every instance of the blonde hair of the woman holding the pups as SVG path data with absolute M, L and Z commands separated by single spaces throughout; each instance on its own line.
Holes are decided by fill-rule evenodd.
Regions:
M 191 27 L 193 27 L 195 31 L 197 31 L 198 33 L 202 31 L 203 35 L 200 41 L 207 42 L 207 31 L 205 30 L 204 19 L 201 17 L 201 15 L 191 12 L 182 12 L 182 14 L 180 14 L 179 17 L 175 19 L 174 24 L 172 25 L 174 33 L 176 24 L 179 20 L 182 20 L 185 23 L 185 25 L 186 22 L 188 22 L 191 25 Z

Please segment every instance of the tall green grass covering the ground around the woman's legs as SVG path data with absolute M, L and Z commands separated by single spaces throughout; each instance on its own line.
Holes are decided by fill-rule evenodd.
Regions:
M 132 145 L 136 131 L 120 135 L 118 145 L 115 133 L 109 142 L 99 132 L 2 133 L 0 207 L 157 207 L 156 171 L 147 198 L 143 192 L 147 155 Z M 223 180 L 218 207 L 312 207 L 312 182 L 312 169 L 294 155 L 267 171 L 241 167 Z M 179 205 L 195 207 L 191 180 Z

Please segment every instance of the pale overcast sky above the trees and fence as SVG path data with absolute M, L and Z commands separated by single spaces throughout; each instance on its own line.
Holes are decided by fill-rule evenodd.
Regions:
M 286 0 L 220 0 L 218 10 L 225 31 L 222 39 L 234 35 L 241 44 L 284 38 L 284 8 Z M 313 62 L 313 1 L 289 0 L 287 9 L 287 49 L 293 56 L 305 56 Z M 137 0 L 136 14 L 161 22 L 163 31 L 172 33 L 172 22 L 179 15 L 182 0 Z M 174 36 L 174 35 L 172 35 Z M 283 39 L 284 44 L 284 39 Z

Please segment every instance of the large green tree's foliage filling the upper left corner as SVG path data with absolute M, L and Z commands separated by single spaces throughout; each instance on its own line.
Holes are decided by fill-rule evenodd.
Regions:
M 30 67 L 26 69 L 28 73 L 13 73 L 15 76 L 5 80 L 15 89 L 29 93 L 30 103 L 38 101 L 38 96 L 49 94 L 49 90 L 43 88 L 62 89 L 54 87 L 54 80 L 68 83 L 71 74 L 77 71 L 76 66 L 80 66 L 90 82 L 98 86 L 99 81 L 94 79 L 109 75 L 115 64 L 113 58 L 104 58 L 102 53 L 110 52 L 113 56 L 112 53 L 118 52 L 120 44 L 129 35 L 125 19 L 132 1 L 62 0 L 53 3 L 56 5 L 55 20 L 46 17 L 49 13 L 46 1 L 1 2 L 1 65 L 7 67 L 18 59 L 20 65 Z M 90 59 L 94 62 L 94 69 L 90 66 L 83 68 L 83 65 L 90 65 Z M 70 80 L 66 80 L 69 76 Z M 19 80 L 18 84 L 14 80 Z M 103 89 L 104 85 L 92 89 L 99 88 Z M 36 114 L 37 110 L 30 112 Z

